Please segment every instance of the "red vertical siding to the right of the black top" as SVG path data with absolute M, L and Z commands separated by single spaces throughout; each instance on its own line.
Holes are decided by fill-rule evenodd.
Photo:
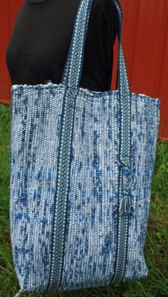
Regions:
M 168 139 L 168 1 L 120 0 L 122 46 L 131 91 L 161 99 L 159 136 Z M 112 87 L 115 89 L 115 69 Z

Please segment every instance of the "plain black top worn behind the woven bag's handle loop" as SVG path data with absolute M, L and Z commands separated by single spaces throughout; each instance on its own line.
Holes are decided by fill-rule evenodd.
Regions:
M 26 0 L 6 50 L 12 84 L 60 84 L 80 0 Z M 112 0 L 93 0 L 80 87 L 109 91 L 119 29 Z

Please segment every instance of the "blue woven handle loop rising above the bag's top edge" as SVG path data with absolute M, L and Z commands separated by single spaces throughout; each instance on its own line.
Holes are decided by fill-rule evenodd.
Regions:
M 117 79 L 116 89 L 120 91 L 124 85 L 127 87 L 127 95 L 130 94 L 130 84 L 127 76 L 127 69 L 125 66 L 125 57 L 122 51 L 122 8 L 118 0 L 112 0 L 117 6 L 119 16 L 119 31 L 118 37 L 118 63 L 117 63 Z M 63 69 L 63 76 L 61 83 L 66 86 L 79 88 L 80 78 L 83 69 L 83 58 L 85 50 L 85 41 L 88 32 L 88 21 L 90 15 L 90 9 L 93 4 L 93 0 L 81 0 L 78 6 L 78 12 L 75 17 L 75 24 L 73 27 L 73 36 L 70 42 L 70 48 L 68 56 L 65 61 L 65 67 Z M 125 90 L 123 90 L 125 92 Z

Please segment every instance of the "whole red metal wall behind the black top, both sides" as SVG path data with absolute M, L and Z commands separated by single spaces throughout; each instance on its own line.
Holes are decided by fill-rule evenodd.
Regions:
M 6 46 L 16 12 L 23 0 L 0 3 L 0 101 L 10 104 L 11 80 L 6 69 Z M 123 11 L 122 46 L 131 91 L 161 99 L 159 137 L 168 139 L 168 1 L 120 0 Z M 111 90 L 117 76 L 117 39 Z

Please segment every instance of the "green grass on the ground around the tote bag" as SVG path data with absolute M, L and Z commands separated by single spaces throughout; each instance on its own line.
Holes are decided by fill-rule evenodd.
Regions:
M 9 237 L 9 129 L 10 108 L 0 104 L 0 296 L 12 297 L 19 290 Z M 162 297 L 168 296 L 168 143 L 158 139 L 152 179 L 149 223 L 145 240 L 147 278 L 78 291 L 26 294 L 62 297 Z

